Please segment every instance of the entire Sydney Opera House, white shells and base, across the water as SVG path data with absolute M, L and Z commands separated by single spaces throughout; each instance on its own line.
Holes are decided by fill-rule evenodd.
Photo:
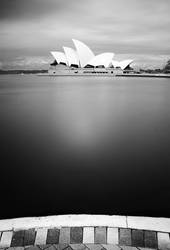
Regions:
M 50 64 L 50 74 L 100 74 L 127 73 L 133 69 L 133 60 L 115 61 L 114 53 L 106 52 L 95 55 L 83 42 L 72 39 L 75 49 L 63 47 L 61 51 L 51 51 L 54 62 Z

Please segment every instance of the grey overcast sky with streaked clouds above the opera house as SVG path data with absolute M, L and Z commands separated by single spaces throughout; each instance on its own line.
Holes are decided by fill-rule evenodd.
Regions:
M 0 66 L 18 58 L 41 63 L 50 50 L 73 46 L 71 38 L 95 54 L 168 58 L 170 0 L 0 1 Z

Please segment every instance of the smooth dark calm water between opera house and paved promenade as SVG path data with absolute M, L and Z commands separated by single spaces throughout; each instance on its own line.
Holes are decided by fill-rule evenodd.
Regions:
M 0 77 L 0 218 L 170 217 L 170 80 Z

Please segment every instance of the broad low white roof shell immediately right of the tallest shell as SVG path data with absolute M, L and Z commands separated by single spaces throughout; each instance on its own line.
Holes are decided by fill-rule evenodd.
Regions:
M 105 68 L 109 67 L 112 63 L 112 59 L 114 57 L 114 53 L 102 53 L 95 57 L 93 57 L 87 64 L 92 65 L 94 67 L 103 65 Z

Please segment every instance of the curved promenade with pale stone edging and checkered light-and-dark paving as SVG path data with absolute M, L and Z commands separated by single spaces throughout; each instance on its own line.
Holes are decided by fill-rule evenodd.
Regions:
M 170 218 L 58 215 L 0 220 L 0 248 L 170 249 Z

